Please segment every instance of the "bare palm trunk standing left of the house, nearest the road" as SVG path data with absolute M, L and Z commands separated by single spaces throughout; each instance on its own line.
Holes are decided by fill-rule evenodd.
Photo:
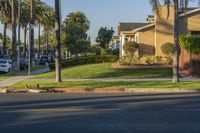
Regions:
M 56 30 L 56 52 L 55 52 L 55 66 L 56 66 L 56 82 L 62 82 L 61 79 L 61 5 L 60 0 L 55 0 L 55 30 Z

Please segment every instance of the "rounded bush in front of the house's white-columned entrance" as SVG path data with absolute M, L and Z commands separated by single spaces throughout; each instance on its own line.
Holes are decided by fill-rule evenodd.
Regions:
M 124 44 L 123 49 L 126 54 L 134 55 L 135 52 L 138 50 L 139 44 L 136 42 L 127 42 Z

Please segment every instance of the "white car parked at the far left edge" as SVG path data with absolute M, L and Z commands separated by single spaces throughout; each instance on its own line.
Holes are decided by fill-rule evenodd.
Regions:
M 11 60 L 0 60 L 0 72 L 10 72 L 12 68 Z

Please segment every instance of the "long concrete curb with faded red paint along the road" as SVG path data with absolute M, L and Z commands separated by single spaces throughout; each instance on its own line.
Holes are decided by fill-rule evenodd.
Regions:
M 127 94 L 177 94 L 200 93 L 200 89 L 184 88 L 52 88 L 52 89 L 0 89 L 0 93 L 127 93 Z

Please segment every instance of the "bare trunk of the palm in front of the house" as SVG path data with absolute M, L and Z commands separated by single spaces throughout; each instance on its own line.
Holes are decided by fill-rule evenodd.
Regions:
M 174 62 L 173 62 L 173 82 L 179 82 L 179 2 L 174 0 Z

